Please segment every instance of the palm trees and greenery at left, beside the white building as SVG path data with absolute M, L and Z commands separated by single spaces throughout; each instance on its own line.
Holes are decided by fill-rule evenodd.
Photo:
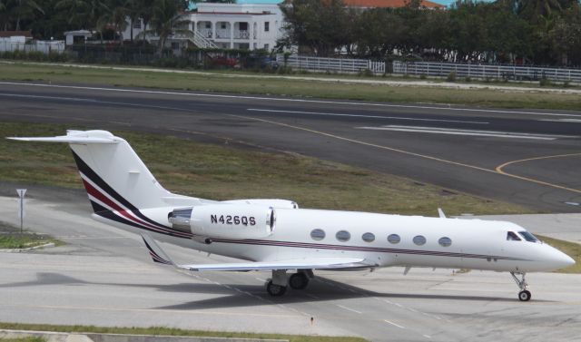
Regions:
M 115 34 L 121 38 L 119 33 L 129 25 L 130 36 L 123 38 L 133 42 L 145 39 L 144 34 L 133 35 L 133 22 L 143 20 L 143 27 L 150 25 L 152 34 L 161 37 L 161 47 L 187 5 L 185 0 L 0 0 L 0 30 L 31 30 L 34 38 L 47 40 L 84 29 L 96 31 L 101 39 L 108 33 L 111 40 Z

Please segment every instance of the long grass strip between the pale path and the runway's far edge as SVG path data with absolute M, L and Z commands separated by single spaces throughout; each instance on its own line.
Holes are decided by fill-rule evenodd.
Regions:
M 448 89 L 388 84 L 330 83 L 312 80 L 229 77 L 228 73 L 155 73 L 59 65 L 0 64 L 0 80 L 84 83 L 187 91 L 275 94 L 393 103 L 450 103 L 502 108 L 578 110 L 581 96 L 494 89 Z

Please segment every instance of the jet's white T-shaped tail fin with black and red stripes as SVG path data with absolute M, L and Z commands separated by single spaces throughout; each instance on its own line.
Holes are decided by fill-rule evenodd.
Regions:
M 8 138 L 25 142 L 68 142 L 95 212 L 165 207 L 163 189 L 128 142 L 106 131 L 67 131 L 49 138 Z

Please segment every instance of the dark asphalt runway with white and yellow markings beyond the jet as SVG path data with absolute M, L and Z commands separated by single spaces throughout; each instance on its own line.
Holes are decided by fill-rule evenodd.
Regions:
M 581 112 L 6 82 L 0 101 L 5 121 L 240 142 L 535 210 L 581 208 Z

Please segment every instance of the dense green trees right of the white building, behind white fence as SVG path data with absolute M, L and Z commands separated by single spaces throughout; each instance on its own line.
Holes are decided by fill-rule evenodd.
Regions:
M 419 0 L 369 9 L 293 0 L 281 8 L 287 34 L 280 46 L 304 54 L 581 66 L 578 0 L 460 0 L 448 9 Z

